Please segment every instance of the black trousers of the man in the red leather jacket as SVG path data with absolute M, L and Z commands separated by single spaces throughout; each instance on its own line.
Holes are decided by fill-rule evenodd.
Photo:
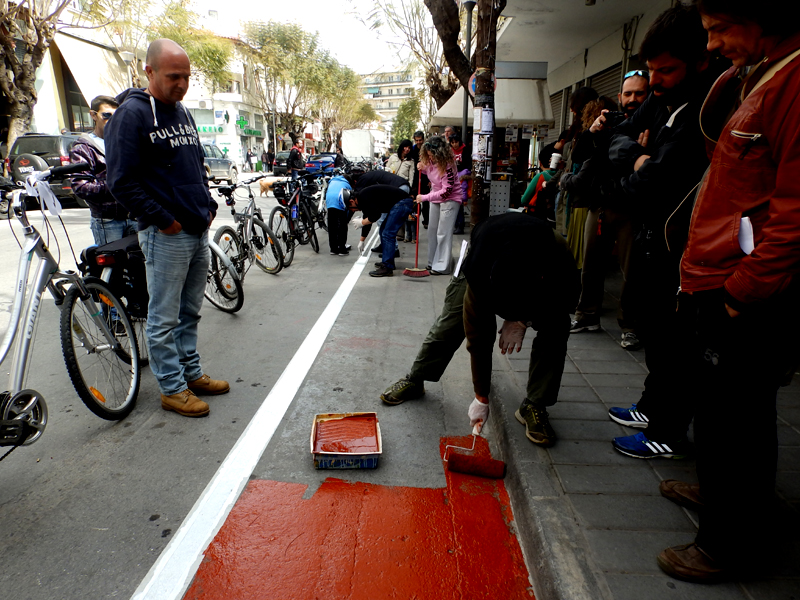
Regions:
M 769 556 L 778 460 L 776 396 L 796 366 L 795 289 L 731 318 L 722 290 L 681 294 L 679 318 L 694 330 L 689 349 L 696 394 L 700 493 L 697 544 L 732 568 Z M 769 334 L 765 343 L 765 334 Z

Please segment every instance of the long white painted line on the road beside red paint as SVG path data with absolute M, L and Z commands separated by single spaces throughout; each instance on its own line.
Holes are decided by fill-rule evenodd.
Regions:
M 314 364 L 359 275 L 370 260 L 369 249 L 375 243 L 377 234 L 378 228 L 375 227 L 366 242 L 366 256 L 360 256 L 350 269 L 250 424 L 189 511 L 175 537 L 133 593 L 133 600 L 179 600 L 186 593 L 203 559 L 203 553 L 242 493 Z

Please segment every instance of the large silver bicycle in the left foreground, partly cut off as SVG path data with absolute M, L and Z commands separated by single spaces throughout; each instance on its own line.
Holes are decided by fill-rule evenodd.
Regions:
M 30 196 L 46 196 L 51 177 L 87 168 L 86 163 L 77 163 L 37 172 L 29 178 L 27 192 Z M 25 238 L 25 243 L 20 244 L 11 318 L 0 345 L 0 362 L 3 362 L 21 334 L 13 354 L 9 389 L 0 394 L 0 446 L 12 446 L 5 458 L 16 447 L 41 439 L 47 425 L 43 395 L 25 387 L 45 289 L 61 311 L 61 346 L 67 373 L 89 410 L 108 420 L 126 417 L 136 404 L 141 371 L 136 332 L 123 301 L 103 281 L 86 281 L 74 271 L 59 271 L 59 261 L 28 221 L 26 190 L 9 190 L 6 186 L 2 191 L 11 192 L 10 210 L 22 226 Z M 55 201 L 54 197 L 52 200 Z M 38 266 L 28 295 L 28 275 L 34 255 Z

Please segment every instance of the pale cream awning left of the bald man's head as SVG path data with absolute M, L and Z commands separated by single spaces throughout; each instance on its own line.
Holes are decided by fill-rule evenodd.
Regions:
M 54 41 L 87 105 L 97 96 L 113 97 L 130 87 L 128 68 L 115 51 L 63 33 Z

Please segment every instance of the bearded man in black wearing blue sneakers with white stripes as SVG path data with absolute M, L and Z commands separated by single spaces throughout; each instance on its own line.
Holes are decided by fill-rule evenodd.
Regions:
M 695 8 L 677 6 L 658 17 L 639 51 L 650 71 L 651 94 L 614 129 L 609 150 L 612 163 L 625 173 L 622 192 L 630 198 L 640 226 L 627 284 L 634 288 L 630 293 L 638 307 L 637 330 L 646 344 L 650 373 L 638 403 L 609 410 L 617 423 L 647 428 L 646 433 L 612 442 L 616 450 L 634 458 L 685 458 L 692 451 L 687 439 L 692 402 L 689 391 L 678 385 L 686 370 L 685 339 L 676 331 L 675 309 L 678 263 L 692 204 L 691 198 L 684 199 L 708 167 L 698 120 L 714 75 L 705 46 Z M 601 116 L 592 129 L 604 127 Z

